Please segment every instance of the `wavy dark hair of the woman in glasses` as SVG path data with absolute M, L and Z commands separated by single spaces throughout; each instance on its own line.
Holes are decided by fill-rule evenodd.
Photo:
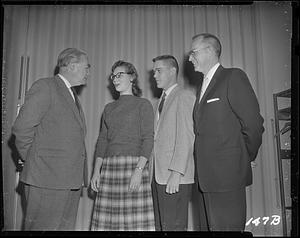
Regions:
M 132 82 L 133 95 L 137 96 L 137 97 L 142 96 L 142 89 L 140 89 L 139 84 L 138 84 L 138 73 L 136 71 L 136 68 L 133 66 L 133 64 L 131 64 L 129 62 L 125 62 L 123 60 L 119 60 L 113 64 L 113 66 L 111 68 L 111 72 L 113 73 L 117 67 L 121 67 L 121 66 L 125 67 L 127 74 L 132 75 L 131 82 Z

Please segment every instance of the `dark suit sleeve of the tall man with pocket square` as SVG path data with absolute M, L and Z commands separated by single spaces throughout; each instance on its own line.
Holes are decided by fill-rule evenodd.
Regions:
M 259 104 L 247 75 L 234 70 L 228 81 L 228 100 L 237 116 L 250 160 L 255 160 L 262 143 L 264 119 L 260 115 Z

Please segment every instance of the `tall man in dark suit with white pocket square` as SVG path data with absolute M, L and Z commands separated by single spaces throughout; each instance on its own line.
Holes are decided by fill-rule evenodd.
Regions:
M 211 34 L 193 37 L 189 61 L 204 75 L 194 105 L 195 167 L 210 231 L 243 231 L 251 161 L 262 143 L 263 118 L 247 75 L 219 63 Z M 203 211 L 200 211 L 203 212 Z

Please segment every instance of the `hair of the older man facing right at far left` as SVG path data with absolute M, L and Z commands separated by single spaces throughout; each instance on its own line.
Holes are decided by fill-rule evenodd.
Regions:
M 63 50 L 57 59 L 57 67 L 65 67 L 70 63 L 80 62 L 81 56 L 87 55 L 84 51 L 81 51 L 76 48 L 67 48 Z

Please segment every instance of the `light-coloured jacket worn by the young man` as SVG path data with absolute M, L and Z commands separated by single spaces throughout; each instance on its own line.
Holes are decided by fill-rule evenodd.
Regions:
M 154 147 L 150 159 L 150 181 L 166 184 L 171 171 L 182 174 L 180 184 L 194 183 L 194 94 L 177 85 L 168 95 L 158 118 L 156 106 Z

